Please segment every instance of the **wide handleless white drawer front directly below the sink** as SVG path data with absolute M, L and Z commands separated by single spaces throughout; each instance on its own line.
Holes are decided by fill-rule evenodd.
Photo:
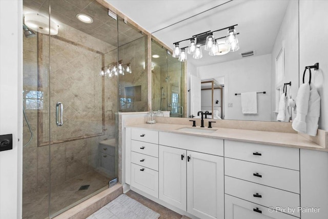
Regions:
M 159 144 L 223 156 L 223 140 L 217 138 L 159 132 Z

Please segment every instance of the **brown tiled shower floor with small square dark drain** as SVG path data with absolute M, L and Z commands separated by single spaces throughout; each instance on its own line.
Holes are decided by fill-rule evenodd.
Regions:
M 108 188 L 109 178 L 91 171 L 52 186 L 50 193 L 50 214 L 63 210 L 82 198 L 100 190 Z M 79 190 L 81 186 L 90 185 L 86 190 Z M 44 219 L 49 216 L 48 190 L 38 190 L 23 195 L 23 219 Z

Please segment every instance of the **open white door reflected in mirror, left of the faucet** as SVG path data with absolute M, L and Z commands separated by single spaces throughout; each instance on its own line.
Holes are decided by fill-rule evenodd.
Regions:
M 190 115 L 197 115 L 200 111 L 201 81 L 199 77 L 190 75 Z

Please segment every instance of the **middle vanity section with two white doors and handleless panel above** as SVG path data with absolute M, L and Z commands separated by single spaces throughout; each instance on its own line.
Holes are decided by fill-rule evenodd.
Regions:
M 223 157 L 213 154 L 223 155 L 222 140 L 159 132 L 159 199 L 199 218 L 224 218 Z

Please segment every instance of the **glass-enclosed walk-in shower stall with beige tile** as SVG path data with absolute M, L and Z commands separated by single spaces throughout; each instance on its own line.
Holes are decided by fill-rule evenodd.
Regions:
M 23 218 L 44 219 L 117 179 L 117 112 L 145 90 L 147 37 L 96 0 L 23 0 L 23 17 Z

